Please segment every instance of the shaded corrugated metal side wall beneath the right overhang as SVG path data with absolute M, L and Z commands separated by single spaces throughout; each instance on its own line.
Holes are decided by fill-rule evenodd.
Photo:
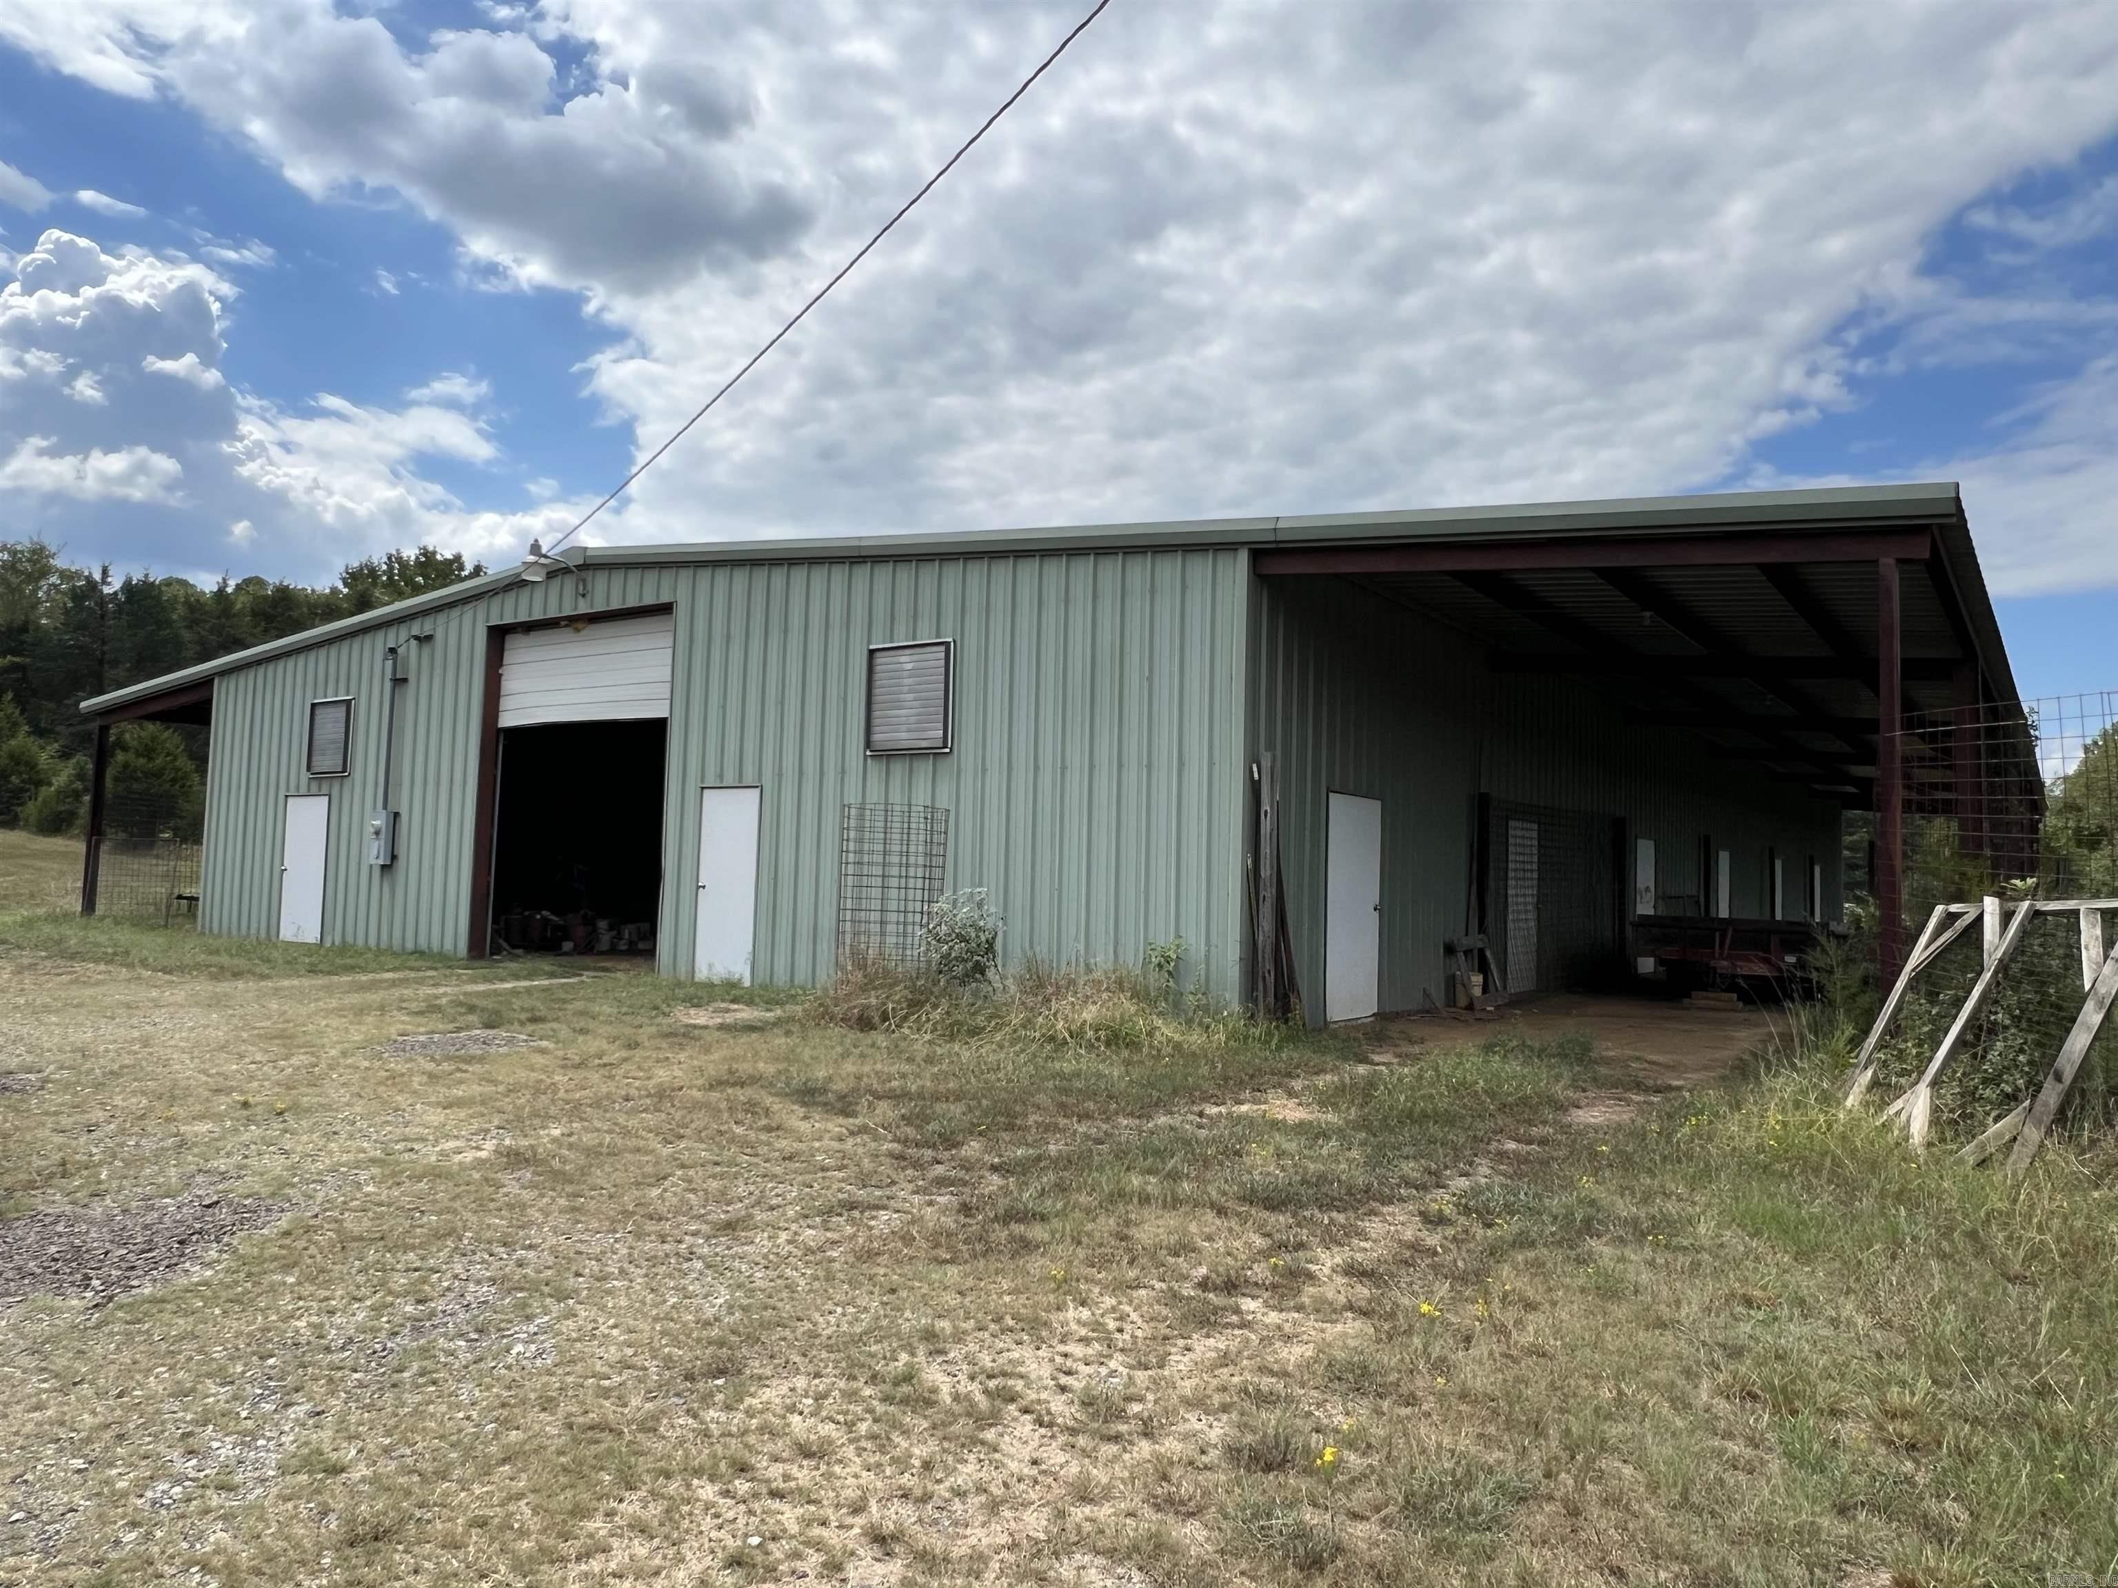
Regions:
M 1279 756 L 1281 866 L 1303 997 L 1324 1008 L 1326 794 L 1383 802 L 1381 1006 L 1447 1001 L 1468 930 L 1478 796 L 1625 817 L 1656 841 L 1663 898 L 1699 889 L 1701 838 L 1733 851 L 1735 915 L 1766 910 L 1766 851 L 1798 915 L 1811 855 L 1841 908 L 1838 811 L 1697 741 L 1637 728 L 1565 678 L 1493 673 L 1474 639 L 1330 578 L 1254 580 L 1250 743 Z M 1620 879 L 1631 887 L 1631 870 Z

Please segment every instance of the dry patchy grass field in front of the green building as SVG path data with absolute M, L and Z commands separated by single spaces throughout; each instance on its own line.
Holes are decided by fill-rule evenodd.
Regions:
M 538 1046 L 379 1050 L 472 1027 Z M 0 1304 L 0 1582 L 2118 1571 L 2107 1152 L 1025 1029 L 0 919 L 0 1275 L 248 1226 Z

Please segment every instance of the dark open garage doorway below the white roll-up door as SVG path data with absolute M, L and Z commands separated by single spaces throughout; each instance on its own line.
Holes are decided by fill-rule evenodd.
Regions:
M 500 733 L 493 951 L 654 957 L 669 724 Z

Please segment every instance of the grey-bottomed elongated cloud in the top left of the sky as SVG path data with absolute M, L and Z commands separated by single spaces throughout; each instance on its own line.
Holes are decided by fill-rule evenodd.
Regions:
M 648 288 L 784 252 L 811 199 L 733 146 L 733 78 L 597 78 L 568 93 L 525 32 L 443 30 L 407 51 L 326 0 L 172 8 L 0 4 L 0 38 L 116 93 L 174 93 L 313 197 L 394 191 L 523 282 Z M 657 78 L 657 74 L 646 74 Z

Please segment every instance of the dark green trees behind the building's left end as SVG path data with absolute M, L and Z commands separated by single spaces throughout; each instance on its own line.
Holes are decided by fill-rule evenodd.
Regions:
M 80 703 L 182 667 L 214 661 L 322 622 L 436 591 L 485 572 L 434 546 L 347 563 L 324 587 L 222 576 L 127 574 L 76 567 L 42 540 L 0 540 L 0 826 L 78 832 L 87 809 L 95 728 Z M 197 826 L 203 733 L 152 722 L 112 735 L 110 807 L 116 822 L 155 830 Z

